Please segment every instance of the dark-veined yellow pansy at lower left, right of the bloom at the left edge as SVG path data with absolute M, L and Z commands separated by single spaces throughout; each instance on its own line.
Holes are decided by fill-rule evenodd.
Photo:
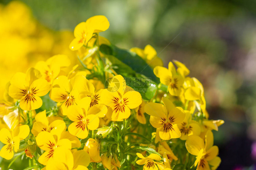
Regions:
M 38 162 L 47 165 L 48 161 L 53 158 L 56 148 L 71 149 L 71 142 L 68 139 L 56 139 L 52 134 L 42 131 L 36 137 L 36 143 L 40 149 L 45 152 L 38 158 Z

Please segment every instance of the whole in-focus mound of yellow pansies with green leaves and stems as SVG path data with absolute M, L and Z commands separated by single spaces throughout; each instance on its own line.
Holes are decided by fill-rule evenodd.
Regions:
M 99 36 L 108 28 L 102 15 L 76 26 L 69 48 L 80 65 L 54 55 L 11 78 L 0 156 L 43 170 L 215 170 L 212 130 L 224 121 L 209 120 L 199 80 L 179 61 L 163 67 L 150 45 L 116 47 Z

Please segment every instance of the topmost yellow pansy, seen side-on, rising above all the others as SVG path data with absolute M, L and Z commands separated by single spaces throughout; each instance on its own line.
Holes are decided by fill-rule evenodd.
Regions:
M 109 22 L 103 15 L 96 15 L 86 22 L 79 23 L 74 30 L 75 39 L 70 43 L 71 50 L 78 50 L 92 38 L 93 33 L 106 31 L 109 28 Z

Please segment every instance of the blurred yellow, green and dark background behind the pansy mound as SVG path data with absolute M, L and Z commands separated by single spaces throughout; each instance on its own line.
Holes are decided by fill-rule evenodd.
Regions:
M 105 15 L 110 42 L 150 44 L 165 66 L 181 61 L 202 82 L 210 119 L 225 121 L 214 134 L 218 169 L 256 169 L 255 9 L 243 0 L 0 0 L 0 93 L 38 60 L 61 53 L 76 62 L 74 27 Z

